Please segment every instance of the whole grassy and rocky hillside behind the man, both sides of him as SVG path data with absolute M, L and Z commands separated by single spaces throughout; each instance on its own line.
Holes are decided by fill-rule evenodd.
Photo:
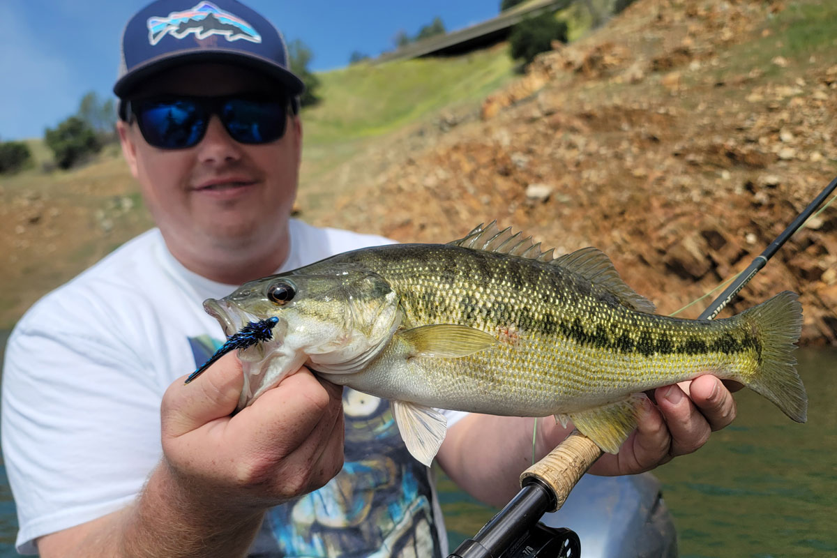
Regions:
M 837 6 L 813 0 L 638 0 L 521 79 L 502 47 L 323 74 L 300 218 L 409 242 L 497 219 L 559 251 L 598 246 L 671 313 L 746 267 L 837 174 L 835 30 Z M 6 326 L 150 223 L 116 153 L 2 181 Z M 733 310 L 793 289 L 804 340 L 837 344 L 834 211 Z

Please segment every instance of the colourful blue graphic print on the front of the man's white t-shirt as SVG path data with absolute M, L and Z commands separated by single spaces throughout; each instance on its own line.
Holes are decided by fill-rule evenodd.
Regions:
M 223 341 L 189 338 L 195 366 Z M 326 486 L 270 509 L 251 556 L 441 558 L 429 469 L 413 459 L 389 402 L 343 391 L 345 463 Z

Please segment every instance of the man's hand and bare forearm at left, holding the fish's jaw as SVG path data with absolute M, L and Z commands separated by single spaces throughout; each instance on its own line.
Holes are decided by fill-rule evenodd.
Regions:
M 223 356 L 162 399 L 162 462 L 136 501 L 45 535 L 44 558 L 243 556 L 264 510 L 326 484 L 343 463 L 341 387 L 306 368 L 230 417 L 244 385 Z

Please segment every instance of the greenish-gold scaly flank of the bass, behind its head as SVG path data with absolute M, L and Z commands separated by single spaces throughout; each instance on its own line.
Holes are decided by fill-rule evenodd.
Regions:
M 680 381 L 694 371 L 720 368 L 729 351 L 747 349 L 735 337 L 721 343 L 731 330 L 723 320 L 630 313 L 607 292 L 579 285 L 550 264 L 447 245 L 372 248 L 359 259 L 398 293 L 411 326 L 468 325 L 498 339 L 513 328 L 514 342 L 415 364 L 432 377 L 444 402 L 468 411 L 571 411 L 605 402 L 626 387 L 644 391 L 671 381 L 675 370 Z M 697 353 L 696 346 L 724 350 Z M 521 395 L 515 407 L 504 404 L 507 388 Z M 475 390 L 494 397 L 469 404 Z M 521 401 L 531 407 L 521 408 Z

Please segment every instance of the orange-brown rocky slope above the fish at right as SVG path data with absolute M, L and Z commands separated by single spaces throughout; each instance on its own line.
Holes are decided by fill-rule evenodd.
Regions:
M 744 269 L 837 174 L 837 65 L 785 48 L 789 9 L 639 0 L 542 55 L 479 119 L 413 133 L 426 147 L 406 156 L 371 152 L 388 170 L 319 220 L 445 242 L 496 219 L 559 252 L 603 249 L 671 313 Z M 837 343 L 835 229 L 829 207 L 731 310 L 792 289 L 804 342 Z

